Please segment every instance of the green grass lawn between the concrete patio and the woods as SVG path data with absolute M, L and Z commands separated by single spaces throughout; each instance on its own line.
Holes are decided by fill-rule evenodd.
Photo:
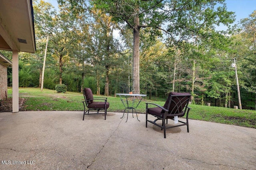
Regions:
M 24 105 L 20 111 L 83 111 L 84 109 L 82 93 L 57 93 L 55 90 L 48 89 L 43 89 L 41 92 L 40 88 L 19 88 L 19 96 L 20 98 L 25 98 Z M 8 97 L 12 97 L 11 88 L 8 89 Z M 95 95 L 94 97 L 97 96 Z M 142 100 L 137 108 L 138 113 L 146 112 L 146 102 L 164 106 L 164 100 L 160 98 L 158 100 L 148 100 L 147 98 Z M 119 96 L 108 96 L 108 102 L 110 103 L 109 112 L 124 111 L 124 106 Z M 253 110 L 194 104 L 191 104 L 189 107 L 191 107 L 189 119 L 256 128 L 256 111 Z

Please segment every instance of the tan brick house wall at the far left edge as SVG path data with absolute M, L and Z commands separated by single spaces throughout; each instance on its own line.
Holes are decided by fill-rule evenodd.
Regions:
M 7 86 L 7 67 L 0 64 L 0 99 L 6 98 Z

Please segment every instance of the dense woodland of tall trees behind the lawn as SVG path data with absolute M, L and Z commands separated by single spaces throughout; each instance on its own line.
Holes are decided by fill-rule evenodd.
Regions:
M 132 91 L 148 98 L 191 92 L 193 103 L 232 107 L 236 59 L 242 106 L 255 109 L 256 11 L 232 25 L 234 12 L 223 0 L 58 3 L 56 10 L 33 1 L 36 53 L 19 55 L 20 87 L 41 86 L 49 36 L 44 88 L 65 84 L 72 92 L 89 87 L 97 95 Z M 217 31 L 221 23 L 228 29 Z

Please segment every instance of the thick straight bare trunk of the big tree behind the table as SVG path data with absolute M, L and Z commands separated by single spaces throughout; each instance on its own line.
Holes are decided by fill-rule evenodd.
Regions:
M 139 12 L 139 8 L 136 9 Z M 133 28 L 133 84 L 132 91 L 134 94 L 140 94 L 140 29 L 139 16 L 134 16 Z

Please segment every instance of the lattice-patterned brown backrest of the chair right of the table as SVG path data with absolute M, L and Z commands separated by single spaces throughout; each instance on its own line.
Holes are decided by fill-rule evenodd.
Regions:
M 170 92 L 168 98 L 164 104 L 164 108 L 168 109 L 168 114 L 177 114 L 177 113 L 185 113 L 186 109 L 183 111 L 184 107 L 188 106 L 188 102 L 190 101 L 191 94 L 188 93 L 177 93 Z M 162 111 L 164 113 L 164 111 Z

